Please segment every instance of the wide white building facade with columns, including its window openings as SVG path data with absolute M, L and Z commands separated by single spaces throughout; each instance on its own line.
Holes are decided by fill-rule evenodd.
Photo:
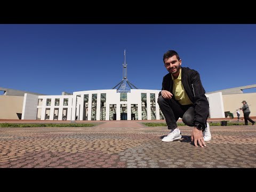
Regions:
M 25 93 L 21 119 L 112 121 L 164 119 L 157 103 L 161 90 L 116 89 L 74 92 L 73 95 Z M 210 118 L 225 117 L 221 92 L 206 94 Z

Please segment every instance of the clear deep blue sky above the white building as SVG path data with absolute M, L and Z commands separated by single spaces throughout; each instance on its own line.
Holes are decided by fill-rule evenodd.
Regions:
M 179 53 L 206 92 L 256 84 L 256 25 L 0 25 L 0 87 L 60 95 L 112 89 L 123 78 L 161 90 L 163 54 Z M 256 92 L 251 89 L 245 92 Z

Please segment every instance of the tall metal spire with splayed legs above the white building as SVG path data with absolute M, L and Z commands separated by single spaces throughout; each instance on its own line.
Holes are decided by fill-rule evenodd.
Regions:
M 124 64 L 123 64 L 123 80 L 120 83 L 118 83 L 116 86 L 114 86 L 112 89 L 115 89 L 117 86 L 118 86 L 116 91 L 117 93 L 130 93 L 131 89 L 138 89 L 127 79 L 127 63 L 125 60 L 125 50 L 124 50 Z

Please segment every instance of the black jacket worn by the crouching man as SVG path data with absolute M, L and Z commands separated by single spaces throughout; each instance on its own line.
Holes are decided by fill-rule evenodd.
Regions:
M 181 67 L 181 82 L 188 94 L 188 97 L 195 106 L 194 123 L 206 124 L 206 119 L 209 114 L 209 102 L 205 96 L 205 90 L 202 85 L 199 73 L 194 69 L 188 67 Z M 172 92 L 173 81 L 171 74 L 167 74 L 163 78 L 162 90 L 170 91 L 173 94 L 172 99 L 175 100 Z M 162 95 L 159 92 L 158 97 Z

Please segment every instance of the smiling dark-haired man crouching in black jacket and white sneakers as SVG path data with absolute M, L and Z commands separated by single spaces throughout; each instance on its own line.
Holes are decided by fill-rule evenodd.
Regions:
M 177 121 L 192 126 L 191 141 L 200 147 L 211 140 L 211 132 L 207 117 L 209 102 L 205 96 L 199 73 L 188 67 L 181 67 L 181 59 L 176 51 L 164 53 L 164 66 L 169 72 L 163 77 L 162 91 L 158 94 L 158 104 L 162 110 L 170 133 L 162 139 L 171 142 L 181 138 Z

